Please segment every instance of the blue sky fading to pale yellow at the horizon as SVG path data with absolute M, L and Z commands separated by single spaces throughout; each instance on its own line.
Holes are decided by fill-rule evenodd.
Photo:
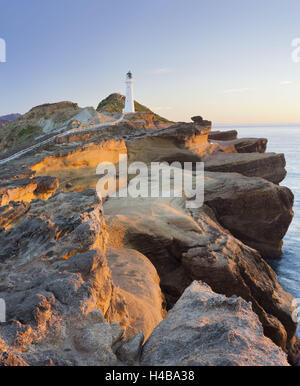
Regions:
M 131 70 L 174 121 L 299 123 L 299 20 L 299 0 L 0 0 L 0 116 L 97 107 Z

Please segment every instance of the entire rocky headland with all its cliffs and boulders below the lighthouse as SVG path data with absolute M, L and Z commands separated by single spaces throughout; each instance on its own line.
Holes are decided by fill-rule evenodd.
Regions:
M 41 105 L 2 128 L 0 365 L 296 363 L 294 299 L 267 262 L 293 219 L 284 155 L 200 116 L 165 122 L 142 106 L 120 117 L 112 95 L 97 111 Z M 124 155 L 163 163 L 171 182 L 168 163 L 204 162 L 203 205 L 181 188 L 99 192 L 101 163 L 116 166 L 112 192 L 131 184 Z

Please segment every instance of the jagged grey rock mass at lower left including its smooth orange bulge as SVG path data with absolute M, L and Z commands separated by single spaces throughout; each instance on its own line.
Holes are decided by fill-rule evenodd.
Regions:
M 0 364 L 135 360 L 140 339 L 131 338 L 142 334 L 144 340 L 166 315 L 159 277 L 137 251 L 110 249 L 106 259 L 106 224 L 96 192 L 11 202 L 0 210 L 3 221 L 0 298 L 7 323 L 0 324 Z

